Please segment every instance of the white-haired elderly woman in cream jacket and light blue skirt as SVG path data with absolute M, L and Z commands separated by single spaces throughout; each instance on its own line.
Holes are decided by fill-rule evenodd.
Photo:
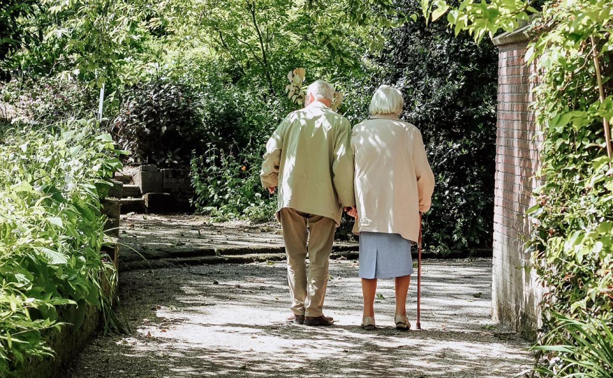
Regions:
M 379 278 L 395 278 L 394 322 L 399 330 L 411 327 L 405 308 L 413 273 L 411 244 L 417 242 L 420 213 L 430 208 L 434 189 L 421 133 L 398 119 L 402 107 L 398 89 L 379 86 L 370 102 L 373 117 L 354 126 L 351 135 L 365 330 L 376 328 L 373 304 Z

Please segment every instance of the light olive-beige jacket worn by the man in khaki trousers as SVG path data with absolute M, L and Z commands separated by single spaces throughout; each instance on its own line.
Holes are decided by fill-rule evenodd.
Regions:
M 260 177 L 278 186 L 278 210 L 334 219 L 354 206 L 351 125 L 321 102 L 283 119 L 266 145 Z

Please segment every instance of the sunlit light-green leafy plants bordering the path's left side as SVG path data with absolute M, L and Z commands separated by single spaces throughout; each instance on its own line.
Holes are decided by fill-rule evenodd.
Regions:
M 110 135 L 85 121 L 12 130 L 0 144 L 0 376 L 51 355 L 44 331 L 78 327 L 88 305 L 117 325 L 99 198 L 120 167 Z M 76 306 L 74 319 L 59 316 L 66 306 Z

